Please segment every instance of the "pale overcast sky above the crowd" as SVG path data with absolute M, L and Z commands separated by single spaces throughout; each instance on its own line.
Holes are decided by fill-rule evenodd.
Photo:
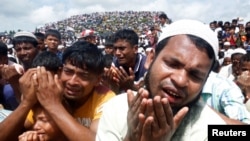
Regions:
M 250 21 L 249 0 L 0 0 L 0 32 L 35 27 L 72 15 L 103 11 L 164 11 L 173 21 L 209 23 L 243 17 Z

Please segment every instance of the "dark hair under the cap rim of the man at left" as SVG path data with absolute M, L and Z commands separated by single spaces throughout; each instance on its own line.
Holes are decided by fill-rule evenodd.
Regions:
M 34 47 L 37 47 L 38 44 L 36 39 L 28 36 L 18 36 L 13 39 L 14 48 L 16 47 L 17 44 L 21 43 L 31 43 Z

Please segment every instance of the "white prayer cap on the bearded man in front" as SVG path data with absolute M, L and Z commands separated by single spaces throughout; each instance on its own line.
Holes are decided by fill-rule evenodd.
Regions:
M 183 19 L 171 23 L 166 30 L 163 30 L 158 42 L 167 37 L 181 34 L 194 35 L 205 40 L 213 48 L 214 55 L 218 59 L 219 42 L 216 33 L 197 20 Z

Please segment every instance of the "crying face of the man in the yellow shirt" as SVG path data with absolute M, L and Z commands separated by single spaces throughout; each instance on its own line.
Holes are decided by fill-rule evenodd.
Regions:
M 100 82 L 101 75 L 66 63 L 63 66 L 60 79 L 64 86 L 64 96 L 67 99 L 78 101 L 86 100 L 92 94 L 93 89 Z

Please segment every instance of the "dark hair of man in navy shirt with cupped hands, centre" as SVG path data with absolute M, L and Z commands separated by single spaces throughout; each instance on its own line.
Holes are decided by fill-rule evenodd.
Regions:
M 118 30 L 113 36 L 113 42 L 123 39 L 129 42 L 131 45 L 138 45 L 139 36 L 132 29 Z

